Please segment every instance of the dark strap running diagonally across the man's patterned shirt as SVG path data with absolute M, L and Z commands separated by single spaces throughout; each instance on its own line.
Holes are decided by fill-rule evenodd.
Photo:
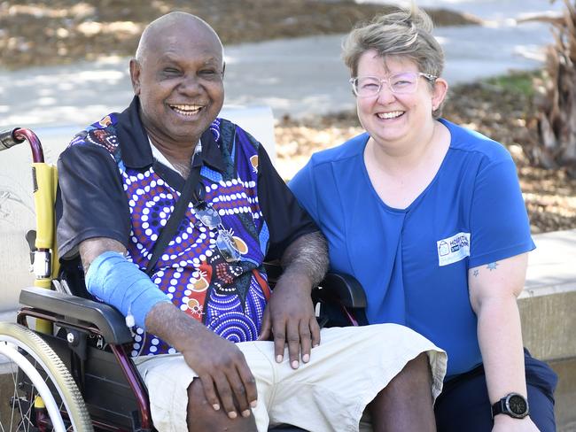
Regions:
M 178 229 L 180 222 L 182 222 L 184 214 L 186 213 L 186 209 L 188 208 L 188 204 L 190 204 L 190 201 L 194 195 L 194 189 L 198 185 L 198 181 L 200 180 L 200 170 L 202 169 L 203 160 L 201 149 L 201 144 L 198 144 L 198 148 L 194 152 L 194 156 L 192 158 L 191 172 L 184 182 L 180 197 L 174 206 L 174 212 L 170 214 L 166 226 L 162 228 L 156 243 L 154 243 L 152 258 L 150 258 L 150 261 L 148 261 L 148 266 L 146 266 L 145 271 L 148 276 L 152 275 L 154 266 L 156 266 L 158 259 L 164 253 L 164 251 L 166 251 L 168 243 L 170 243 L 170 240 L 174 237 L 176 229 Z

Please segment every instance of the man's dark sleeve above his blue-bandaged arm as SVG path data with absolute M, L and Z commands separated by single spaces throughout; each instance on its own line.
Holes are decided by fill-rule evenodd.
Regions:
M 75 144 L 58 158 L 58 254 L 73 258 L 82 241 L 107 237 L 127 245 L 128 198 L 111 154 L 92 144 Z

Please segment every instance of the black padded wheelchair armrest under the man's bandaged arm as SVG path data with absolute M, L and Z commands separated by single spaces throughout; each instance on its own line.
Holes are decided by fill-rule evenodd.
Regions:
M 102 333 L 106 343 L 121 344 L 132 341 L 124 317 L 110 305 L 36 287 L 22 289 L 19 301 L 22 305 L 61 315 L 65 322 L 92 324 Z

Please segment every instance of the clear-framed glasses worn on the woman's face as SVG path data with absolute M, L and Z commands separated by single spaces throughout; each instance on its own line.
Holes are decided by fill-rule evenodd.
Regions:
M 434 81 L 437 76 L 423 72 L 403 72 L 395 73 L 389 78 L 378 78 L 378 76 L 358 76 L 351 78 L 350 83 L 354 90 L 354 95 L 359 97 L 378 96 L 382 89 L 382 84 L 386 83 L 388 89 L 396 95 L 409 95 L 416 92 L 418 88 L 418 78 L 424 77 L 428 81 Z

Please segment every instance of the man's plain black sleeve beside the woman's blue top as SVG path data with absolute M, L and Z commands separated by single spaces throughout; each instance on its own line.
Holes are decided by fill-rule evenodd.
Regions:
M 281 258 L 285 249 L 298 237 L 318 231 L 314 220 L 300 207 L 272 166 L 262 145 L 258 149 L 258 202 L 270 234 L 266 260 Z

